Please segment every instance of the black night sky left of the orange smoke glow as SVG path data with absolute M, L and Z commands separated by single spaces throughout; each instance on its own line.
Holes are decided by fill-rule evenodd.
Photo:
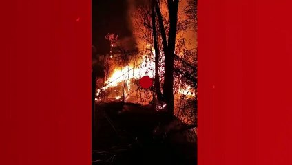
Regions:
M 92 0 L 92 45 L 98 53 L 110 52 L 107 33 L 118 34 L 119 38 L 131 36 L 127 22 L 127 0 Z

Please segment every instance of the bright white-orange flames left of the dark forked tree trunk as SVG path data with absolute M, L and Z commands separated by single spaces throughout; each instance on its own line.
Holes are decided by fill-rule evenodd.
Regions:
M 110 55 L 105 58 L 105 81 L 102 87 L 97 87 L 96 96 L 103 100 L 149 103 L 153 90 L 141 89 L 138 80 L 154 73 L 151 47 L 138 52 L 131 39 L 118 39 L 115 34 L 107 34 L 106 39 L 111 44 Z

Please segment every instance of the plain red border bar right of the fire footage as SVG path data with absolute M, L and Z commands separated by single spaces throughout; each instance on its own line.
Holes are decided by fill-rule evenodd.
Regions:
M 198 164 L 292 164 L 291 1 L 199 1 Z

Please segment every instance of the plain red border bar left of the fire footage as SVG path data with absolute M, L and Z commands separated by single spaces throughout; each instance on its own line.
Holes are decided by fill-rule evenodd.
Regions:
M 0 164 L 91 164 L 91 1 L 0 8 Z

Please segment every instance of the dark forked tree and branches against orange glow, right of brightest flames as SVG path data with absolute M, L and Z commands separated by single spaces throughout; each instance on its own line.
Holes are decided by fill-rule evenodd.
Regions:
M 137 41 L 154 48 L 156 98 L 175 115 L 186 116 L 182 109 L 191 108 L 180 105 L 189 102 L 194 107 L 191 123 L 196 125 L 198 51 L 196 39 L 191 40 L 196 36 L 190 37 L 196 32 L 196 0 L 189 4 L 191 0 L 151 0 L 134 12 L 132 24 Z

